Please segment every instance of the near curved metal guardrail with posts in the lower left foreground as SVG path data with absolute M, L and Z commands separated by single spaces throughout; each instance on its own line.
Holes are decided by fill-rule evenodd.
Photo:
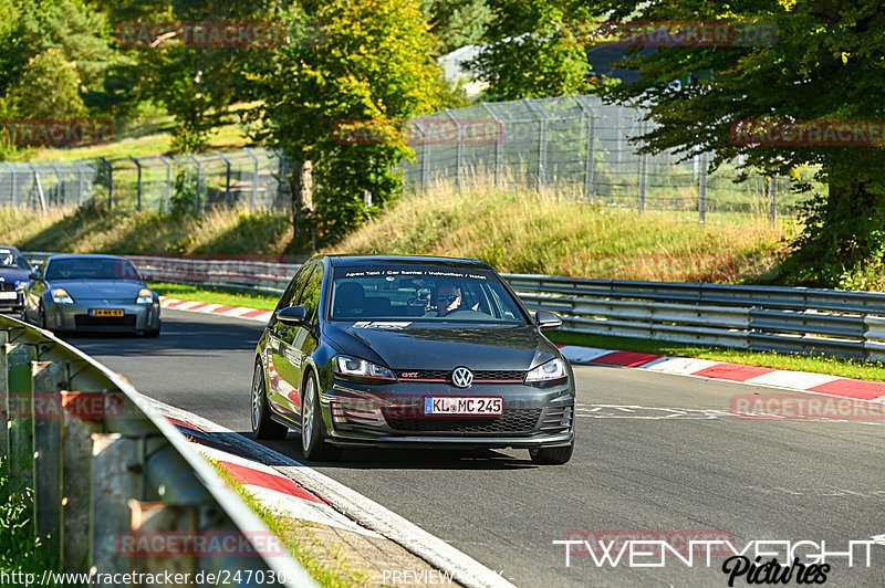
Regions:
M 92 573 L 91 586 L 167 570 L 186 586 L 315 586 L 121 376 L 2 315 L 0 347 L 0 451 L 10 480 L 34 490 L 35 532 L 65 570 Z

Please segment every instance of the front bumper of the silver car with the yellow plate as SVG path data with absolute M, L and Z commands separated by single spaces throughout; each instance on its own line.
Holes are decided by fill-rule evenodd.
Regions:
M 123 316 L 90 316 L 93 308 L 118 308 Z M 159 328 L 159 304 L 54 304 L 46 308 L 46 328 L 96 333 L 156 330 Z

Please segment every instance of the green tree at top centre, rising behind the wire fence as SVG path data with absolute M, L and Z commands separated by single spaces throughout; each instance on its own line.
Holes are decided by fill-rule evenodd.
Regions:
M 602 11 L 586 0 L 490 0 L 485 46 L 469 67 L 492 99 L 587 92 L 585 49 L 576 28 Z

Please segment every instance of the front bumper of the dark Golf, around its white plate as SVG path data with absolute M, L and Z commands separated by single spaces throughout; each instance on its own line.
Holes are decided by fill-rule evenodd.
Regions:
M 428 416 L 427 396 L 498 397 L 500 417 Z M 335 381 L 321 395 L 326 441 L 333 445 L 400 448 L 521 448 L 574 441 L 574 390 L 569 381 L 538 388 L 523 384 L 360 386 Z

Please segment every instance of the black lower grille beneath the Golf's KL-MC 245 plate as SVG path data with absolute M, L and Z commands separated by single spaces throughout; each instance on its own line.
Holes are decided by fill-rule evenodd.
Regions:
M 540 408 L 504 410 L 500 417 L 423 417 L 410 418 L 403 409 L 385 408 L 384 418 L 395 431 L 446 432 L 446 433 L 499 433 L 524 434 L 531 432 L 538 419 Z M 413 413 L 414 414 L 414 413 Z

